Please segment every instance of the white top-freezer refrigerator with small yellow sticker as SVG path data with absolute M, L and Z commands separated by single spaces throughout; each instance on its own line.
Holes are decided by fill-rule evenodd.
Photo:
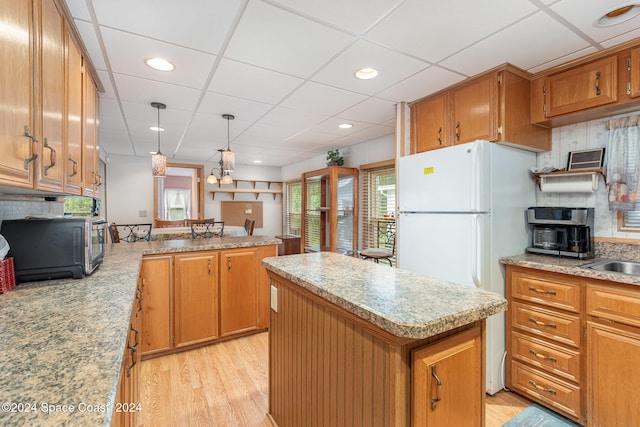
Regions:
M 536 155 L 472 143 L 401 157 L 398 267 L 505 295 L 499 258 L 528 246 Z M 487 319 L 487 392 L 504 387 L 505 316 Z

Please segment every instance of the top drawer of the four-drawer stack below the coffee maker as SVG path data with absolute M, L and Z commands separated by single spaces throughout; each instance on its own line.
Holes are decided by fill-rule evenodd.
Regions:
M 579 312 L 580 285 L 563 280 L 562 276 L 540 273 L 534 277 L 516 271 L 511 276 L 511 287 L 514 298 Z

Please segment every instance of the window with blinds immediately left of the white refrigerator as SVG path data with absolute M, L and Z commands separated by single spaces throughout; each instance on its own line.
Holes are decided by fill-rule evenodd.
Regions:
M 362 168 L 362 249 L 393 249 L 396 229 L 395 163 Z M 390 238 L 393 237 L 393 238 Z M 392 259 L 395 265 L 395 257 Z

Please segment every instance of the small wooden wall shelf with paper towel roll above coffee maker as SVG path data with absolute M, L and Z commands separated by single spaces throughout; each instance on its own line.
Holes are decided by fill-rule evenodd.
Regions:
M 549 173 L 532 173 L 540 191 L 545 193 L 592 193 L 598 189 L 599 177 L 606 181 L 603 168 L 577 171 L 559 170 Z

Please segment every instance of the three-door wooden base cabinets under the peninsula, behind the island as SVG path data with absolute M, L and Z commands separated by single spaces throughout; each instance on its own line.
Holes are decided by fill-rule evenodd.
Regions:
M 261 262 L 277 246 L 148 255 L 144 357 L 188 349 L 269 327 L 269 284 Z

